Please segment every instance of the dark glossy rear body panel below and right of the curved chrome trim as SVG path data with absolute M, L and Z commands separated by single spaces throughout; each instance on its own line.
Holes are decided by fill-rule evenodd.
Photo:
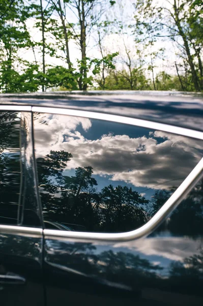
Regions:
M 153 234 L 128 242 L 45 236 L 47 305 L 201 305 L 203 181 Z

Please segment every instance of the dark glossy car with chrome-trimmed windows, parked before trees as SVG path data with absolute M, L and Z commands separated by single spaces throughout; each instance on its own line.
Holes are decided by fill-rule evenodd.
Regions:
M 203 97 L 0 95 L 4 306 L 203 304 Z

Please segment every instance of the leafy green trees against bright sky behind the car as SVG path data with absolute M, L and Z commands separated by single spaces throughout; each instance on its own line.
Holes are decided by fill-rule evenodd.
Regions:
M 201 0 L 0 0 L 0 92 L 203 91 Z

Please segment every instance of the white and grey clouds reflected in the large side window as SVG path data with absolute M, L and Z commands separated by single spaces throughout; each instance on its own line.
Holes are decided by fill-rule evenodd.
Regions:
M 37 157 L 51 150 L 73 155 L 66 169 L 92 166 L 94 174 L 136 187 L 168 189 L 179 186 L 201 158 L 200 141 L 143 129 L 143 136 L 119 135 L 111 130 L 94 139 L 94 120 L 43 114 L 35 121 Z M 41 121 L 42 122 L 42 121 Z M 108 127 L 108 123 L 103 121 Z M 118 125 L 118 124 L 117 124 Z M 106 127 L 106 129 L 107 129 Z M 136 127 L 133 127 L 136 133 Z M 82 135 L 83 133 L 85 137 Z M 98 133 L 98 131 L 97 131 Z

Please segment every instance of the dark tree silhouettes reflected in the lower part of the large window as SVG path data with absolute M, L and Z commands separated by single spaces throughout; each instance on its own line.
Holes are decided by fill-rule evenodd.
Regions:
M 63 175 L 71 158 L 69 152 L 51 151 L 37 159 L 45 218 L 105 232 L 129 231 L 144 223 L 146 198 L 127 186 L 109 185 L 99 192 L 91 166 L 77 167 L 75 176 Z

